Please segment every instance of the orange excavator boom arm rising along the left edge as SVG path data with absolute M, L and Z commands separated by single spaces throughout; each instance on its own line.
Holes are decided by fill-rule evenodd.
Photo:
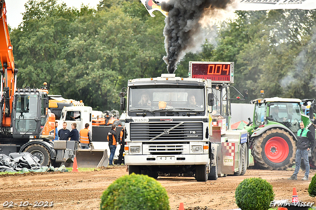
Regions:
M 14 63 L 13 47 L 11 45 L 8 26 L 6 23 L 6 7 L 4 0 L 0 0 L 0 60 L 2 69 L 0 83 L 0 126 L 11 126 L 11 113 L 14 92 L 16 90 L 16 76 L 18 70 Z

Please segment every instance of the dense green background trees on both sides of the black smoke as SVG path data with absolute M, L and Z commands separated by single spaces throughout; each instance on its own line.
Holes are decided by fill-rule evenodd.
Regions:
M 83 100 L 96 110 L 119 108 L 118 92 L 131 78 L 167 73 L 162 57 L 164 16 L 150 17 L 139 0 L 101 0 L 80 9 L 57 0 L 29 0 L 23 22 L 10 30 L 18 87 Z M 235 84 L 260 97 L 316 98 L 316 11 L 236 11 L 236 18 L 212 29 L 189 61 L 235 62 Z M 237 93 L 232 93 L 234 97 Z

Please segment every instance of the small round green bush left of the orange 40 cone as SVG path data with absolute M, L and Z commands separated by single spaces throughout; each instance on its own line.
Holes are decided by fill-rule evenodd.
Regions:
M 241 210 L 268 210 L 275 193 L 267 180 L 246 178 L 237 186 L 235 198 Z

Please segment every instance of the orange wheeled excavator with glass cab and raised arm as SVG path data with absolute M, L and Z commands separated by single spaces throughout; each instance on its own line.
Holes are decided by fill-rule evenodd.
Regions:
M 74 158 L 74 145 L 54 145 L 55 115 L 48 111 L 47 83 L 38 88 L 17 88 L 18 69 L 6 22 L 5 1 L 0 0 L 0 154 L 30 152 L 44 166 Z M 74 143 L 74 142 L 72 142 Z M 55 146 L 55 148 L 54 148 Z

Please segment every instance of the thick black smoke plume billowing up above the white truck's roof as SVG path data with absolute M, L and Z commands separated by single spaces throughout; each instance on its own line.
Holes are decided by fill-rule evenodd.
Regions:
M 161 2 L 161 9 L 169 14 L 165 18 L 163 35 L 167 56 L 163 60 L 169 73 L 174 73 L 177 63 L 197 44 L 204 40 L 200 20 L 204 16 L 216 16 L 217 10 L 226 9 L 233 0 L 169 0 Z M 199 39 L 199 40 L 197 40 Z

